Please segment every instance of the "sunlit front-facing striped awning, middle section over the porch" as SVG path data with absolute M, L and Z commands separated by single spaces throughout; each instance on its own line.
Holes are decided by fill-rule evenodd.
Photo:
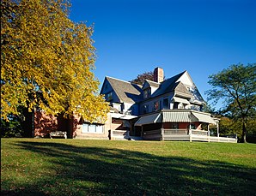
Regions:
M 196 122 L 197 119 L 192 116 L 191 111 L 163 111 L 162 122 Z

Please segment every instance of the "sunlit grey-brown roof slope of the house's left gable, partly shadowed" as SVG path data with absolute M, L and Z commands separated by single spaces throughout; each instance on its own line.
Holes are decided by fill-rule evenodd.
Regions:
M 111 84 L 121 102 L 134 104 L 142 99 L 142 86 L 108 76 L 106 80 Z

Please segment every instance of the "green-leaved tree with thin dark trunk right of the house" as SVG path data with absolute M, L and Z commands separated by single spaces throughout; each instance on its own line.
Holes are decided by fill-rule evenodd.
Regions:
M 209 79 L 208 99 L 222 100 L 222 114 L 241 120 L 241 141 L 246 142 L 247 121 L 256 114 L 256 63 L 231 65 Z

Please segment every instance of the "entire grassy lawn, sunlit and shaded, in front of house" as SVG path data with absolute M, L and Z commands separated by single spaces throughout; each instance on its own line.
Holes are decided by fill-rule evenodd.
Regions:
M 1 141 L 1 195 L 256 194 L 253 144 Z

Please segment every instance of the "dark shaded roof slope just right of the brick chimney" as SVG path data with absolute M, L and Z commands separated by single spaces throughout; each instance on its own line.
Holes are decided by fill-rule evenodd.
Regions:
M 155 97 L 160 96 L 162 94 L 174 91 L 175 87 L 177 87 L 180 83 L 180 82 L 177 83 L 177 80 L 179 80 L 181 75 L 183 75 L 185 72 L 186 71 L 184 71 L 180 74 L 176 74 L 176 75 L 174 75 L 174 77 L 162 81 L 159 88 L 151 95 L 151 98 L 155 98 Z M 181 88 L 181 87 L 179 86 L 179 88 Z

